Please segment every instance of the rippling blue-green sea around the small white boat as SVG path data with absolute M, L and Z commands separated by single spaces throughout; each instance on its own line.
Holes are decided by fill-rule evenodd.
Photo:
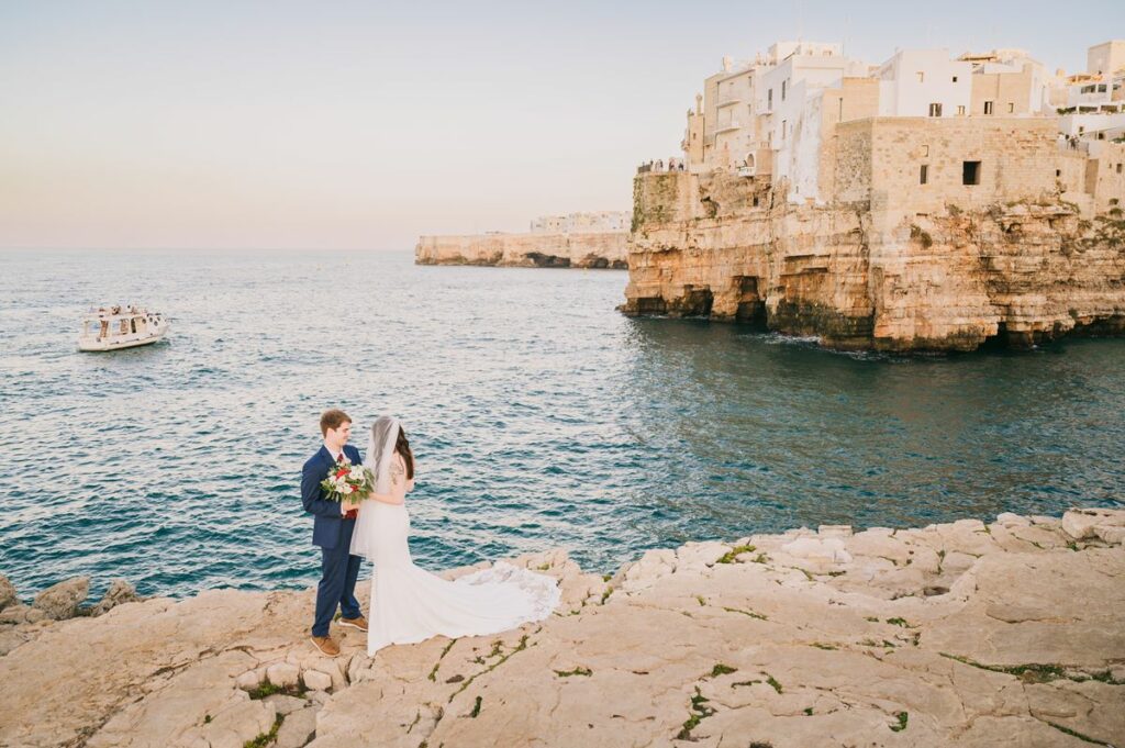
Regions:
M 144 594 L 318 576 L 298 476 L 317 417 L 398 415 L 430 568 L 798 525 L 1120 506 L 1125 341 L 846 355 L 614 312 L 626 273 L 408 253 L 0 254 L 0 573 Z M 172 317 L 75 351 L 91 303 Z M 368 573 L 364 569 L 364 575 Z

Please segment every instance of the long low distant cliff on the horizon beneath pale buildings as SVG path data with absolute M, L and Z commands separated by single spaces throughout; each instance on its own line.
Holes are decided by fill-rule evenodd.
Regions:
M 414 247 L 414 262 L 624 270 L 628 238 L 622 232 L 422 236 Z

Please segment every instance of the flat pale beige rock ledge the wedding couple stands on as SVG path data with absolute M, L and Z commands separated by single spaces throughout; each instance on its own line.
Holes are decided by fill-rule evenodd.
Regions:
M 0 746 L 1122 747 L 1123 535 L 1113 510 L 821 526 L 608 579 L 549 551 L 515 559 L 560 580 L 547 621 L 374 659 L 312 647 L 313 591 L 9 623 Z

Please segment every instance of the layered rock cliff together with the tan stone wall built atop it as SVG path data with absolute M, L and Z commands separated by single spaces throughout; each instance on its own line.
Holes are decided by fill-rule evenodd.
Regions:
M 983 162 L 987 184 L 964 186 L 962 156 L 937 157 L 963 134 L 939 141 L 934 130 L 968 125 L 924 125 L 920 134 L 884 132 L 906 125 L 878 120 L 840 126 L 834 192 L 819 205 L 786 200 L 790 186 L 768 177 L 639 175 L 622 312 L 748 322 L 888 351 L 1125 333 L 1125 190 L 1115 168 L 1125 146 L 1107 146 L 1083 172 L 1033 123 L 1010 157 Z M 1014 136 L 994 135 L 974 147 L 1004 156 Z M 894 148 L 915 153 L 911 137 L 934 143 L 917 146 L 930 184 L 894 161 Z M 1068 191 L 1063 180 L 1080 172 L 1082 186 Z

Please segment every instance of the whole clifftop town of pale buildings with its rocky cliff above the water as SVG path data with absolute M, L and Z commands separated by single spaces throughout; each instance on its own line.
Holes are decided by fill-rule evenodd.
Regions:
M 634 179 L 627 314 L 891 351 L 1125 331 L 1125 40 L 1077 74 L 778 42 L 723 58 L 681 145 Z

